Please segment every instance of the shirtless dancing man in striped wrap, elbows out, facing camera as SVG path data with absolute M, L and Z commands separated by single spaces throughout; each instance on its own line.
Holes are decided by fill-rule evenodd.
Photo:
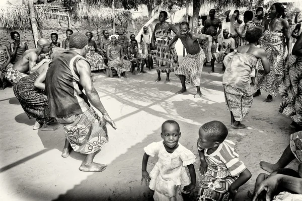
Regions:
M 201 97 L 200 91 L 200 77 L 202 72 L 202 65 L 204 60 L 204 52 L 199 46 L 198 40 L 207 40 L 208 42 L 208 58 L 212 58 L 211 54 L 211 45 L 212 45 L 212 37 L 205 34 L 191 34 L 189 32 L 190 27 L 189 23 L 182 22 L 179 25 L 180 33 L 177 33 L 176 36 L 172 39 L 169 44 L 169 48 L 171 45 L 176 42 L 179 38 L 187 49 L 188 54 L 184 58 L 183 62 L 180 64 L 179 68 L 176 70 L 176 76 L 180 78 L 182 89 L 177 92 L 177 94 L 181 94 L 187 91 L 186 83 L 191 83 L 197 88 L 197 93 L 194 98 Z

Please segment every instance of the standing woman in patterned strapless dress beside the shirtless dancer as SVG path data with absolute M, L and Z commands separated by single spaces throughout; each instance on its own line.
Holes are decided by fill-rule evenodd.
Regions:
M 152 46 L 157 50 L 155 59 L 158 72 L 158 78 L 155 82 L 161 81 L 161 72 L 167 73 L 165 83 L 169 83 L 170 73 L 178 68 L 178 56 L 175 47 L 168 48 L 172 40 L 171 30 L 176 34 L 178 30 L 172 23 L 166 22 L 168 13 L 162 11 L 159 16 L 159 23 L 155 25 L 154 32 L 151 38 Z

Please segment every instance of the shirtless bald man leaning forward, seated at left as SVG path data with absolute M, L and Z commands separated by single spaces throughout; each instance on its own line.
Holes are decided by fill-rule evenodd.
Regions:
M 35 49 L 28 49 L 22 57 L 14 64 L 13 67 L 7 69 L 6 78 L 15 85 L 21 78 L 34 73 L 40 65 L 37 64 L 37 59 L 40 54 L 48 53 L 50 42 L 44 38 L 38 40 L 38 46 Z

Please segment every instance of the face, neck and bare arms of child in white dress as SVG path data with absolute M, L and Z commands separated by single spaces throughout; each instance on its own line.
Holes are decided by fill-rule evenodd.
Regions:
M 161 132 L 161 137 L 164 140 L 163 144 L 166 149 L 166 151 L 170 154 L 172 154 L 178 147 L 178 141 L 181 136 L 181 133 L 179 131 L 179 127 L 174 123 L 166 123 L 163 127 L 163 130 Z M 147 163 L 148 163 L 149 155 L 144 153 L 142 158 L 142 167 L 141 167 L 141 181 L 143 179 L 148 183 L 151 178 L 149 176 L 149 173 L 147 172 Z M 192 191 L 196 186 L 196 174 L 195 174 L 195 168 L 193 164 L 190 164 L 187 166 L 189 169 L 190 177 L 191 177 L 191 183 L 187 186 L 184 186 L 184 192 L 190 192 Z

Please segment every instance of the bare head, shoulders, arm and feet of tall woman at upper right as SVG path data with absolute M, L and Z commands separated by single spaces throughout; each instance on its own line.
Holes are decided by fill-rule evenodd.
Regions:
M 268 15 L 268 18 L 267 18 Z M 284 20 L 281 18 L 281 16 L 278 15 L 277 11 L 276 11 L 276 7 L 275 5 L 273 5 L 268 14 L 266 14 L 263 18 L 263 21 L 261 23 L 261 27 L 263 32 L 265 30 L 274 30 L 274 31 L 281 31 L 286 39 L 286 46 L 287 46 L 287 57 L 286 60 L 290 54 L 290 49 L 291 49 L 291 42 L 290 42 L 290 28 L 289 28 L 289 23 L 287 20 Z M 253 96 L 260 96 L 261 95 L 261 91 L 257 90 Z M 263 102 L 269 103 L 273 100 L 273 97 L 269 94 L 266 99 Z

